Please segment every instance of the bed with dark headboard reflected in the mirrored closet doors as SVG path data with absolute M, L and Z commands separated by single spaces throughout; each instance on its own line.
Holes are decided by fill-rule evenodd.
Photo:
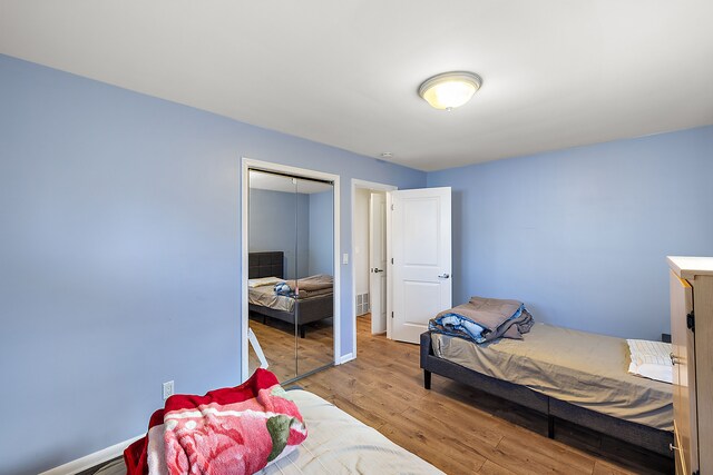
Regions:
M 250 253 L 248 279 L 284 277 L 284 253 Z M 275 318 L 290 325 L 297 325 L 300 337 L 305 337 L 306 325 L 331 318 L 334 314 L 334 290 L 300 293 L 299 298 L 275 295 L 270 286 L 248 287 L 248 310 L 263 318 Z

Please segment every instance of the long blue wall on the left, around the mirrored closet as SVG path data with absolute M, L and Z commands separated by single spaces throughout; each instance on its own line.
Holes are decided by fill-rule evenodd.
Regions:
M 241 157 L 399 188 L 426 174 L 0 56 L 0 473 L 146 429 L 160 384 L 238 383 Z M 342 266 L 341 347 L 352 348 Z

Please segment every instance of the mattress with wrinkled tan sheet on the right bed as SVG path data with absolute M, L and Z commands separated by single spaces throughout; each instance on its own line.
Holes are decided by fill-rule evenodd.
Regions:
M 627 373 L 625 339 L 535 324 L 488 344 L 432 333 L 433 354 L 586 409 L 673 431 L 672 385 Z

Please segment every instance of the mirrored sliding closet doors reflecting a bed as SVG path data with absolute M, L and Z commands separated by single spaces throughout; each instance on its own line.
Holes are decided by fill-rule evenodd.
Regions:
M 333 186 L 250 170 L 248 370 L 289 382 L 334 362 Z

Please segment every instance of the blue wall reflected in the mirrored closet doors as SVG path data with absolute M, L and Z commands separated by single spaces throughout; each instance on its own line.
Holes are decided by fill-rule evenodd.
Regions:
M 250 251 L 282 250 L 285 254 L 284 278 L 307 276 L 311 255 L 310 216 L 310 195 L 252 188 Z

